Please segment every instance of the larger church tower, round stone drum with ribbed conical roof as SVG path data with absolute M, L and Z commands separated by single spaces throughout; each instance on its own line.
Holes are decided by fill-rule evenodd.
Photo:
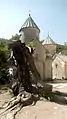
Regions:
M 34 20 L 32 19 L 31 15 L 24 22 L 19 30 L 21 37 L 21 41 L 25 41 L 26 44 L 32 42 L 34 39 L 39 40 L 40 29 L 35 24 Z

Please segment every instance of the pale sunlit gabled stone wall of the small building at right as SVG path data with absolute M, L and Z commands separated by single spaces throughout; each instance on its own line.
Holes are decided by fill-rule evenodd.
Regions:
M 66 74 L 65 74 L 65 63 L 59 59 L 58 57 L 55 58 L 55 60 L 52 63 L 52 74 L 53 74 L 53 79 L 65 79 Z

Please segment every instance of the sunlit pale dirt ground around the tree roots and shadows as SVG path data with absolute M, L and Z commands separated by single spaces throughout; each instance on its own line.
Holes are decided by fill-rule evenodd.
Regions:
M 57 83 L 53 90 L 67 92 L 67 83 Z M 0 90 L 0 107 L 11 99 L 7 91 Z M 8 119 L 6 116 L 0 119 Z M 67 105 L 61 105 L 47 100 L 38 101 L 35 106 L 27 106 L 21 109 L 16 119 L 67 119 Z

